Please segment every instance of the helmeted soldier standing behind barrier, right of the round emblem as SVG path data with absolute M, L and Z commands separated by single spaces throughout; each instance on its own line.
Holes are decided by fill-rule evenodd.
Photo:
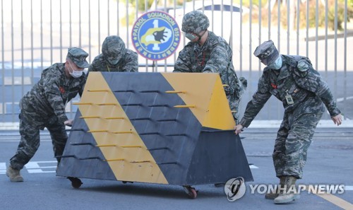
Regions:
M 227 42 L 208 30 L 210 22 L 201 11 L 191 11 L 183 18 L 181 30 L 191 40 L 179 52 L 173 72 L 219 73 L 233 117 L 239 121 L 239 101 L 246 79 L 238 78 L 232 64 L 232 49 Z

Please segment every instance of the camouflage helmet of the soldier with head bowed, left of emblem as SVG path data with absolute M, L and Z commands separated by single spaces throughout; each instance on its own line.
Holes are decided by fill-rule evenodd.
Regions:
M 112 35 L 105 38 L 102 44 L 102 54 L 109 64 L 118 64 L 125 53 L 126 47 L 121 37 Z

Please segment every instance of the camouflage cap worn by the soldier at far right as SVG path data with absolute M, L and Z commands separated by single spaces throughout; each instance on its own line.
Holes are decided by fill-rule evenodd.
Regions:
M 253 55 L 258 57 L 258 59 L 260 59 L 263 64 L 268 66 L 275 62 L 280 53 L 275 47 L 273 41 L 268 40 L 263 42 L 261 45 L 258 45 L 258 47 L 256 47 L 255 51 L 253 52 Z

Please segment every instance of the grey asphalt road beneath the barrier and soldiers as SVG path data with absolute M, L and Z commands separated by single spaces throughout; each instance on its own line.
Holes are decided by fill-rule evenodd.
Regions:
M 353 209 L 353 130 L 318 128 L 309 148 L 304 185 L 345 185 L 343 194 L 309 194 L 293 204 L 275 205 L 250 185 L 277 184 L 271 153 L 277 129 L 246 129 L 242 143 L 254 182 L 246 182 L 246 194 L 229 202 L 223 187 L 194 186 L 196 199 L 189 199 L 180 186 L 82 179 L 73 189 L 64 177 L 56 177 L 56 161 L 47 132 L 41 146 L 21 171 L 25 182 L 13 183 L 5 175 L 8 159 L 19 141 L 18 131 L 0 132 L 0 209 Z M 236 160 L 234 160 L 236 161 Z

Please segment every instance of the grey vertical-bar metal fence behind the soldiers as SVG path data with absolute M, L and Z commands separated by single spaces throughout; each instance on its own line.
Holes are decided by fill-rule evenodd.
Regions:
M 353 91 L 347 83 L 353 78 L 349 59 L 353 56 L 353 49 L 349 48 L 353 46 L 349 37 L 352 24 L 347 21 L 352 5 L 347 0 L 240 0 L 239 4 L 184 0 L 181 5 L 177 0 L 164 0 L 147 4 L 147 0 L 1 0 L 1 122 L 18 122 L 20 98 L 40 79 L 42 69 L 64 62 L 68 47 L 85 49 L 90 62 L 100 54 L 106 36 L 119 35 L 126 47 L 134 50 L 131 28 L 141 14 L 162 10 L 173 16 L 181 28 L 184 14 L 197 9 L 210 19 L 209 30 L 229 41 L 236 72 L 248 79 L 241 115 L 256 91 L 264 67 L 253 56 L 253 50 L 271 39 L 281 54 L 309 57 L 328 81 L 345 117 L 353 117 L 353 97 L 349 96 Z M 144 9 L 139 10 L 141 7 Z M 177 52 L 164 61 L 152 62 L 139 56 L 139 71 L 172 71 L 177 54 L 186 43 L 183 36 Z M 282 119 L 282 111 L 282 104 L 271 98 L 256 119 Z M 73 118 L 75 105 L 69 104 L 67 112 Z

